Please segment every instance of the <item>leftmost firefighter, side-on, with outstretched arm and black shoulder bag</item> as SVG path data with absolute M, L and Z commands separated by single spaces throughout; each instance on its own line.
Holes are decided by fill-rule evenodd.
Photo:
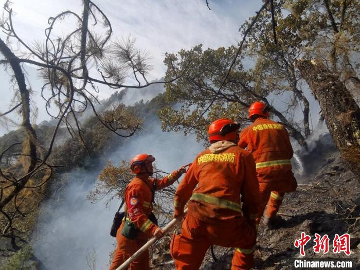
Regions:
M 130 162 L 135 178 L 125 188 L 125 218 L 116 233 L 117 247 L 110 270 L 115 270 L 135 251 L 147 242 L 148 238 L 164 236 L 164 231 L 157 226 L 152 213 L 155 190 L 172 185 L 185 171 L 185 167 L 170 173 L 163 179 L 150 177 L 153 174 L 152 163 L 155 158 L 148 154 L 139 154 Z M 141 254 L 130 264 L 131 270 L 149 269 L 149 251 Z

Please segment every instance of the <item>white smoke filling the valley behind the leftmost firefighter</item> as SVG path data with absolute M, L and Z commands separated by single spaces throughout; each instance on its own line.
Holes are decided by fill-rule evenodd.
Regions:
M 157 168 L 171 172 L 192 162 L 203 150 L 194 136 L 161 132 L 157 120 L 142 135 L 124 140 L 124 147 L 109 157 L 113 164 L 118 165 L 120 159 L 130 159 L 138 153 L 149 153 L 155 156 Z M 104 163 L 92 171 L 68 173 L 68 185 L 56 187 L 43 205 L 33 248 L 46 268 L 86 269 L 88 250 L 95 251 L 97 270 L 109 267 L 109 253 L 115 242 L 110 227 L 120 202 L 115 200 L 110 209 L 105 209 L 102 201 L 91 204 L 86 199 L 103 166 Z

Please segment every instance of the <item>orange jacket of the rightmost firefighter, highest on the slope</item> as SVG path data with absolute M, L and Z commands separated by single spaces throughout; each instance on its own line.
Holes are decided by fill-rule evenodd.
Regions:
M 253 154 L 259 182 L 293 177 L 290 159 L 294 151 L 282 124 L 260 117 L 240 133 L 238 145 Z

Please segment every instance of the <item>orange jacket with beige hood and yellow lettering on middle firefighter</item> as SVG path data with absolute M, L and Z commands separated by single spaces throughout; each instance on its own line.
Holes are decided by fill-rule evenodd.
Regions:
M 230 141 L 213 143 L 197 155 L 177 187 L 176 215 L 183 213 L 189 200 L 188 214 L 210 224 L 241 221 L 242 214 L 255 221 L 259 184 L 253 156 Z

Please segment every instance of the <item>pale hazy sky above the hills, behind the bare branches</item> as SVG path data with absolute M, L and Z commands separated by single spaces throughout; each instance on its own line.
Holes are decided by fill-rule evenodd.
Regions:
M 0 0 L 3 7 L 5 0 Z M 13 25 L 16 33 L 28 44 L 44 40 L 44 31 L 49 16 L 61 11 L 71 10 L 81 14 L 81 0 L 12 0 Z M 211 10 L 205 0 L 95 0 L 107 15 L 114 30 L 113 39 L 121 39 L 129 34 L 137 39 L 138 49 L 146 49 L 152 57 L 153 70 L 148 79 L 155 80 L 164 76 L 165 52 L 177 52 L 202 43 L 204 48 L 237 45 L 241 39 L 240 25 L 255 15 L 262 2 L 260 0 L 209 0 Z M 1 16 L 2 13 L 0 13 Z M 66 19 L 68 20 L 68 19 Z M 61 35 L 74 25 L 62 24 L 54 32 Z M 0 32 L 0 38 L 5 34 Z M 16 48 L 16 44 L 12 44 Z M 41 104 L 40 89 L 42 82 L 34 68 L 28 68 L 29 83 L 34 91 L 33 100 L 38 104 L 37 123 L 47 118 Z M 0 112 L 10 109 L 12 91 L 9 91 L 9 76 L 0 68 Z M 131 83 L 133 80 L 130 80 Z M 99 97 L 104 99 L 114 92 L 102 88 Z M 0 127 L 0 135 L 5 132 Z

